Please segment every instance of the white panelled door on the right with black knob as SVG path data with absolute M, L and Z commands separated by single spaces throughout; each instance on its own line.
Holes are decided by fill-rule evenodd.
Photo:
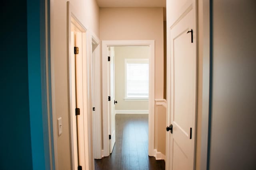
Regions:
M 193 170 L 196 115 L 195 0 L 170 1 L 170 170 Z M 170 9 L 170 8 L 168 8 Z M 170 125 L 169 124 L 169 125 Z

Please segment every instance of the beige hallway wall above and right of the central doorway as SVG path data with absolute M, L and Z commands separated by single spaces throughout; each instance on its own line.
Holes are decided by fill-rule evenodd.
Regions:
M 155 98 L 164 94 L 163 8 L 100 8 L 101 40 L 155 40 Z

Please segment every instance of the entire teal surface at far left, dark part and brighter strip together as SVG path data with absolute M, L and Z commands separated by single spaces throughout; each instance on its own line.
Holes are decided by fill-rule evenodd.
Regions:
M 0 170 L 48 170 L 44 0 L 1 3 Z

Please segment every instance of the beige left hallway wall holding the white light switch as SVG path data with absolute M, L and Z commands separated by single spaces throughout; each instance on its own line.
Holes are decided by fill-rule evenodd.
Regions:
M 78 20 L 99 37 L 99 8 L 94 0 L 70 0 Z M 67 3 L 61 0 L 50 1 L 51 12 L 51 67 L 52 67 L 52 112 L 54 123 L 62 117 L 62 135 L 57 139 L 56 167 L 59 170 L 71 169 L 70 127 L 68 103 L 68 56 L 67 56 Z M 54 124 L 57 126 L 56 124 Z M 57 127 L 54 127 L 57 128 Z

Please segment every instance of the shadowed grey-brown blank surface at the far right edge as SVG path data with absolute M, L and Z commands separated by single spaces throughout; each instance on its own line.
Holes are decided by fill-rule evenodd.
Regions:
M 209 169 L 256 169 L 255 0 L 212 1 Z

